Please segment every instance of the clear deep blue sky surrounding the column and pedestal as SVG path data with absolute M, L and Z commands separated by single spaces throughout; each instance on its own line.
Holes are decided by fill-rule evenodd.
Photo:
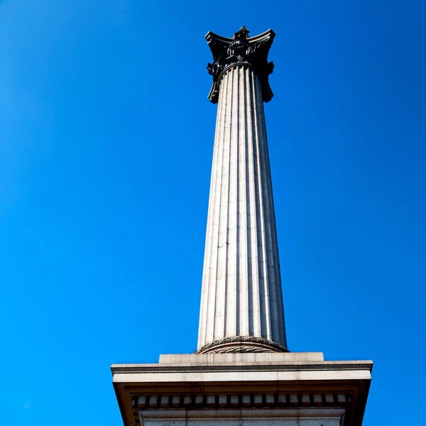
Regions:
M 273 28 L 291 351 L 423 415 L 423 1 L 0 2 L 1 425 L 121 425 L 109 366 L 196 349 L 217 107 L 204 35 Z M 420 370 L 419 370 L 420 368 Z

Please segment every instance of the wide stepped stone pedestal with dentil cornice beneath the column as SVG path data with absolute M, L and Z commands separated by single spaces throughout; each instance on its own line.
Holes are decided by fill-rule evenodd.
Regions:
M 161 355 L 113 365 L 126 426 L 361 426 L 371 361 L 322 353 Z

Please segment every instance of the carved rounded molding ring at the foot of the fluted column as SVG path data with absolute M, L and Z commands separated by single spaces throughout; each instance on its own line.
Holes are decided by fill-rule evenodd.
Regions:
M 288 352 L 284 346 L 271 340 L 253 336 L 235 336 L 204 344 L 195 354 L 226 354 L 241 352 Z

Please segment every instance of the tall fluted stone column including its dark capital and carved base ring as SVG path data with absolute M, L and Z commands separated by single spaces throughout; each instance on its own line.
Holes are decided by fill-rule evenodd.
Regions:
M 263 102 L 274 33 L 208 33 L 218 104 L 198 352 L 287 351 Z

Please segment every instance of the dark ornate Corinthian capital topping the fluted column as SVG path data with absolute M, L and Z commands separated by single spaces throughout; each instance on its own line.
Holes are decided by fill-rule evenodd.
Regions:
M 249 30 L 241 27 L 232 38 L 222 37 L 209 31 L 206 35 L 207 43 L 213 55 L 213 63 L 207 65 L 207 70 L 213 77 L 209 99 L 217 104 L 219 99 L 219 83 L 222 72 L 232 65 L 249 64 L 258 75 L 261 82 L 263 102 L 269 102 L 273 97 L 268 75 L 273 71 L 273 62 L 268 62 L 268 53 L 275 33 L 265 31 L 254 37 L 248 37 Z

